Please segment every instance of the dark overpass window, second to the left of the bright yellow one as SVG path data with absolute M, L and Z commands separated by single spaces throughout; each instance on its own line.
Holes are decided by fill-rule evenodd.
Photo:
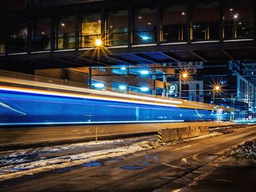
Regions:
M 32 51 L 50 50 L 50 19 L 39 19 L 34 25 Z

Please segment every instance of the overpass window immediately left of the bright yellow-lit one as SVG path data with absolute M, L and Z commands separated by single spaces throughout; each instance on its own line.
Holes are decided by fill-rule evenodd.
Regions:
M 56 49 L 75 48 L 75 16 L 59 19 Z

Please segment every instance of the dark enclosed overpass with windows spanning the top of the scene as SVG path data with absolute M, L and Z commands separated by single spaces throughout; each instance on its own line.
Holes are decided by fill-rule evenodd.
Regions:
M 1 10 L 1 69 L 256 59 L 255 1 L 61 2 Z

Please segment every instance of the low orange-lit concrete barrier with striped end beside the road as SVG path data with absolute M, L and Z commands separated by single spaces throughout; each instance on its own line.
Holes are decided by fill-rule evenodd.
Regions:
M 208 126 L 166 128 L 159 131 L 160 142 L 173 142 L 178 139 L 189 139 L 205 134 L 209 134 Z

